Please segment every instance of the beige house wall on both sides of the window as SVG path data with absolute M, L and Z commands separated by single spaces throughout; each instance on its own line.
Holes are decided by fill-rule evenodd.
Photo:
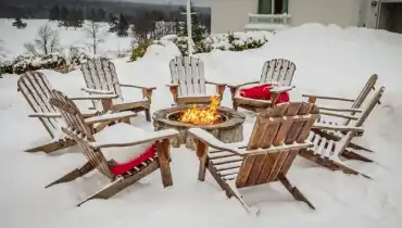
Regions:
M 363 1 L 369 0 L 288 0 L 291 26 L 304 23 L 357 26 Z M 242 31 L 249 13 L 257 13 L 259 0 L 213 0 L 211 31 Z

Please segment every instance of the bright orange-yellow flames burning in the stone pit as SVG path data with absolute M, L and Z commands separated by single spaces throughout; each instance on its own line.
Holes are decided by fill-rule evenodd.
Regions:
M 208 107 L 200 109 L 196 104 L 187 109 L 179 118 L 179 122 L 197 125 L 214 124 L 219 115 L 216 112 L 217 106 L 221 104 L 218 96 L 211 97 L 211 103 Z

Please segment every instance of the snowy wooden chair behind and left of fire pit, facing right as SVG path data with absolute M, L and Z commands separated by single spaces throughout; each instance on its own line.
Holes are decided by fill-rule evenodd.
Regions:
M 89 93 L 115 93 L 117 97 L 109 103 L 109 107 L 103 103 L 103 109 L 110 109 L 114 112 L 121 111 L 133 111 L 146 113 L 146 118 L 151 122 L 150 106 L 152 91 L 154 87 L 141 87 L 136 85 L 121 84 L 117 78 L 116 68 L 112 62 L 106 59 L 93 59 L 89 60 L 81 65 L 80 71 L 84 75 L 87 88 L 83 90 Z M 142 90 L 142 100 L 126 102 L 123 99 L 122 87 L 135 88 Z M 99 109 L 100 104 L 93 103 L 96 109 Z

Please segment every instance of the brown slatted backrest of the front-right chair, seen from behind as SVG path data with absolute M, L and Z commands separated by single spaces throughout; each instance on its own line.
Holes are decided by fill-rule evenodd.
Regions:
M 284 145 L 304 143 L 318 117 L 316 104 L 307 102 L 281 103 L 261 112 L 255 121 L 248 150 L 275 147 L 277 150 L 246 155 L 236 186 L 242 188 L 262 185 L 276 181 L 279 174 L 286 175 L 303 147 L 291 149 Z

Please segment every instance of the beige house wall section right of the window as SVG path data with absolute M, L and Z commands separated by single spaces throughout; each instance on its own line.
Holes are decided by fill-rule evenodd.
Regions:
M 291 26 L 304 23 L 357 26 L 362 0 L 289 0 Z

